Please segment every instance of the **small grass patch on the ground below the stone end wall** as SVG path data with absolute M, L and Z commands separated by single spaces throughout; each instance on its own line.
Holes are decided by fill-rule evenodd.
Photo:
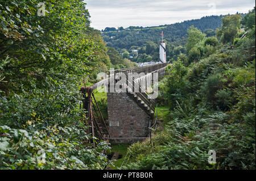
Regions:
M 111 151 L 115 152 L 118 151 L 119 154 L 122 154 L 123 157 L 120 159 L 117 159 L 113 162 L 114 166 L 111 167 L 111 170 L 117 170 L 119 167 L 121 167 L 123 163 L 123 159 L 125 159 L 127 149 L 129 148 L 130 144 L 113 144 L 110 145 L 112 147 Z

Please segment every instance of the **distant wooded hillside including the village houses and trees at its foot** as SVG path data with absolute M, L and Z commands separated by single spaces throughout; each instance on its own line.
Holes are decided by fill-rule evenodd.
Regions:
M 203 31 L 207 36 L 214 36 L 221 27 L 222 16 L 206 16 L 201 19 L 187 20 L 181 23 L 166 24 L 158 27 L 119 27 L 105 28 L 102 37 L 108 47 L 114 47 L 133 62 L 159 61 L 159 39 L 163 31 L 167 43 L 167 61 L 177 59 L 185 53 L 183 47 L 187 41 L 187 29 L 191 26 Z M 133 50 L 137 50 L 134 52 Z

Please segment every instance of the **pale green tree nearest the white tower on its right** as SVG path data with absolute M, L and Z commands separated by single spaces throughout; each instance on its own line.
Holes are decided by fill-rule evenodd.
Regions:
M 187 53 L 201 40 L 204 39 L 205 34 L 203 34 L 200 30 L 195 28 L 194 26 L 189 27 L 188 32 L 188 43 L 186 44 Z

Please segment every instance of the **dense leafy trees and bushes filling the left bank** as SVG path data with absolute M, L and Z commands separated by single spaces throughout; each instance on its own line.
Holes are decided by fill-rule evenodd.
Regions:
M 104 169 L 79 87 L 111 66 L 105 43 L 82 0 L 40 2 L 0 1 L 0 169 Z

